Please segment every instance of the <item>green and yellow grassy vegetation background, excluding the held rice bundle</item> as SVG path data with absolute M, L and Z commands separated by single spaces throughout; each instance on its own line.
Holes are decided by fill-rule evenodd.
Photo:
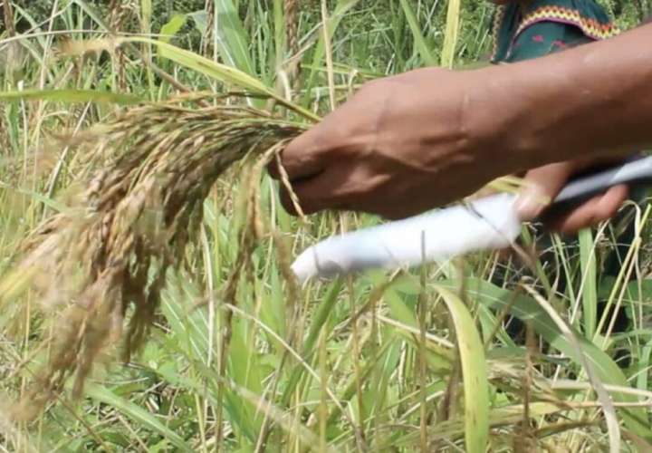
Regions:
M 650 6 L 602 3 L 625 29 Z M 322 115 L 384 74 L 485 60 L 493 6 L 2 0 L 0 11 L 5 272 L 20 239 L 92 165 L 56 138 L 128 109 L 117 93 L 158 102 L 237 89 L 206 72 L 203 55 Z M 92 40 L 134 35 L 155 41 L 61 52 L 66 43 L 83 41 L 88 50 Z M 195 57 L 175 60 L 159 43 Z M 249 102 L 292 117 L 273 102 Z M 107 358 L 82 400 L 64 393 L 34 421 L 10 417 L 43 361 L 46 327 L 35 295 L 3 300 L 0 450 L 652 450 L 647 206 L 630 205 L 618 221 L 577 238 L 537 242 L 524 229 L 526 248 L 547 250 L 533 268 L 486 253 L 299 292 L 283 277 L 287 256 L 264 239 L 229 302 L 219 290 L 242 248 L 246 171 L 236 166 L 206 200 L 201 235 L 184 268 L 168 275 L 146 347 L 129 363 Z M 292 218 L 273 183 L 259 183 L 261 216 L 293 254 L 378 221 Z

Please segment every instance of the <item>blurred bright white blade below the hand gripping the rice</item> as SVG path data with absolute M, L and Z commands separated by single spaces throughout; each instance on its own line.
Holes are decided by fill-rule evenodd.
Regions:
M 411 267 L 510 246 L 521 231 L 514 199 L 512 194 L 494 195 L 467 206 L 332 236 L 299 255 L 292 270 L 304 282 L 370 268 Z

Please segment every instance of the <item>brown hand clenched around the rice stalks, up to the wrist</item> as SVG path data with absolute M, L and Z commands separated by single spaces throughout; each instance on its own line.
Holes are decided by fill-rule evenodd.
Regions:
M 283 151 L 302 210 L 408 217 L 512 172 L 514 159 L 496 145 L 501 121 L 484 110 L 483 87 L 476 72 L 435 68 L 364 85 Z M 491 130 L 492 140 L 480 130 Z M 282 201 L 293 213 L 283 188 Z

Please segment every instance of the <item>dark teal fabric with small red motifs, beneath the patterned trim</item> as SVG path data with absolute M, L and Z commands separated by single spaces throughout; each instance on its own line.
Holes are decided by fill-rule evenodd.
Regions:
M 505 61 L 522 62 L 592 41 L 575 25 L 542 21 L 530 25 L 516 37 Z

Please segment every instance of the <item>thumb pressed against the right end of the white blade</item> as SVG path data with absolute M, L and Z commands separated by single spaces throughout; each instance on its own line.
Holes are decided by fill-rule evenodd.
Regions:
M 574 162 L 566 161 L 528 171 L 525 175 L 525 188 L 516 200 L 519 217 L 522 220 L 539 217 L 576 170 Z

